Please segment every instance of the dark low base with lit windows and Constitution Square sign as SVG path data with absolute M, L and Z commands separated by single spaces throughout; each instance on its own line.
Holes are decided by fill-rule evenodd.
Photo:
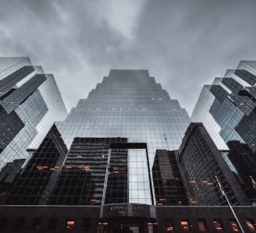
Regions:
M 1 232 L 162 233 L 256 231 L 256 207 L 2 206 Z

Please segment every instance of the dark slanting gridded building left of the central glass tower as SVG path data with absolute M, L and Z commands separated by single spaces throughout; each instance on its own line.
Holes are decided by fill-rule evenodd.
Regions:
M 13 185 L 5 204 L 45 205 L 48 203 L 67 148 L 55 125 L 48 132 L 40 147 L 30 151 L 32 157 Z

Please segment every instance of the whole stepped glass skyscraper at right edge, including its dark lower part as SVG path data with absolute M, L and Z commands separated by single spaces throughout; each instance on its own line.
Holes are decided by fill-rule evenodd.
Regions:
M 236 69 L 228 69 L 224 77 L 215 78 L 212 85 L 203 87 L 191 116 L 194 122 L 203 122 L 252 201 L 255 196 L 249 194 L 253 193 L 250 176 L 256 179 L 255 84 L 256 62 L 241 61 Z M 243 146 L 237 147 L 239 143 Z M 236 154 L 234 150 L 238 150 Z M 251 157 L 251 166 L 247 165 L 248 157 Z

